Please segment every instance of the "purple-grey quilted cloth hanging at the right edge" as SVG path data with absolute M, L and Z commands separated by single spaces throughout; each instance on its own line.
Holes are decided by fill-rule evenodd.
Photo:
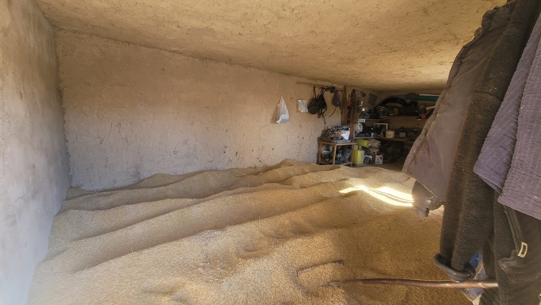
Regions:
M 541 18 L 536 23 L 474 172 L 498 202 L 541 219 Z

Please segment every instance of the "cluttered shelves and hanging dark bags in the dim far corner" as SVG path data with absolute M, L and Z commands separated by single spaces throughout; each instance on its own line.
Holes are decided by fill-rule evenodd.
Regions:
M 312 97 L 307 107 L 309 113 L 318 113 L 318 118 L 326 116 L 324 93 L 327 90 L 333 93 L 332 106 L 335 109 L 332 114 L 340 109 L 341 125 L 326 127 L 318 138 L 318 164 L 360 166 L 402 163 L 432 114 L 434 106 L 431 104 L 438 98 L 433 94 L 411 93 L 391 96 L 377 103 L 376 95 L 365 94 L 358 89 L 348 90 L 347 86 L 340 90 L 308 83 L 298 84 L 312 87 Z M 316 88 L 321 89 L 319 94 Z M 368 96 L 368 103 L 363 99 L 365 96 Z M 301 112 L 304 111 L 303 102 L 298 100 Z

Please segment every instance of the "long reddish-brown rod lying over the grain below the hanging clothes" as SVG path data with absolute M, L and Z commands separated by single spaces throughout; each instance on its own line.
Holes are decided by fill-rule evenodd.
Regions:
M 407 278 L 363 278 L 359 280 L 349 281 L 333 281 L 322 285 L 323 287 L 340 287 L 351 286 L 358 284 L 389 284 L 389 285 L 405 285 L 405 286 L 417 286 L 426 288 L 484 288 L 492 289 L 498 288 L 498 282 L 496 280 L 472 280 L 465 282 L 453 282 L 453 281 L 423 281 L 423 280 L 409 280 Z

